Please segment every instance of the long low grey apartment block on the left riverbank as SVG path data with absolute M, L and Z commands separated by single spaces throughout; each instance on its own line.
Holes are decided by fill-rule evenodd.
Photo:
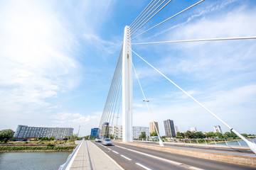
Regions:
M 63 140 L 73 134 L 73 128 L 43 128 L 28 127 L 27 125 L 18 125 L 14 137 L 17 138 L 36 138 L 36 137 L 55 137 L 55 140 Z

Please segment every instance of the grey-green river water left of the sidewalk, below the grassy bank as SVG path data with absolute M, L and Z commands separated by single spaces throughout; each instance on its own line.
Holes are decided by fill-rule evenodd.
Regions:
M 1 170 L 58 170 L 72 152 L 0 152 Z

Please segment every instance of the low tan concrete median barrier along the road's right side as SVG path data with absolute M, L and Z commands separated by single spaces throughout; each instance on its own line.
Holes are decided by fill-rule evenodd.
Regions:
M 117 141 L 114 141 L 114 142 L 117 142 Z M 117 142 L 117 143 L 132 145 L 135 147 L 143 147 L 146 149 L 158 150 L 161 152 L 182 154 L 188 157 L 197 157 L 200 159 L 208 159 L 208 160 L 213 160 L 218 162 L 256 167 L 256 157 L 246 157 L 246 156 L 233 155 L 233 154 L 203 152 L 203 151 L 196 151 L 196 150 L 189 150 L 189 149 L 177 149 L 177 148 L 171 148 L 171 147 L 160 147 L 160 146 L 144 145 L 144 144 L 138 144 L 138 143 L 132 143 L 132 142 Z

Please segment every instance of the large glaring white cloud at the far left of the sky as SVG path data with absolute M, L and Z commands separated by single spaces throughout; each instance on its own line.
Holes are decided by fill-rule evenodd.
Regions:
M 31 115 L 51 105 L 47 98 L 78 84 L 75 40 L 40 1 L 0 4 L 0 111 Z

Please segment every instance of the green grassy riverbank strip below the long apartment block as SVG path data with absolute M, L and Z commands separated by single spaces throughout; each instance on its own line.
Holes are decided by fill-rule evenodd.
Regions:
M 6 142 L 0 144 L 0 152 L 67 152 L 73 151 L 76 146 L 74 140 Z

